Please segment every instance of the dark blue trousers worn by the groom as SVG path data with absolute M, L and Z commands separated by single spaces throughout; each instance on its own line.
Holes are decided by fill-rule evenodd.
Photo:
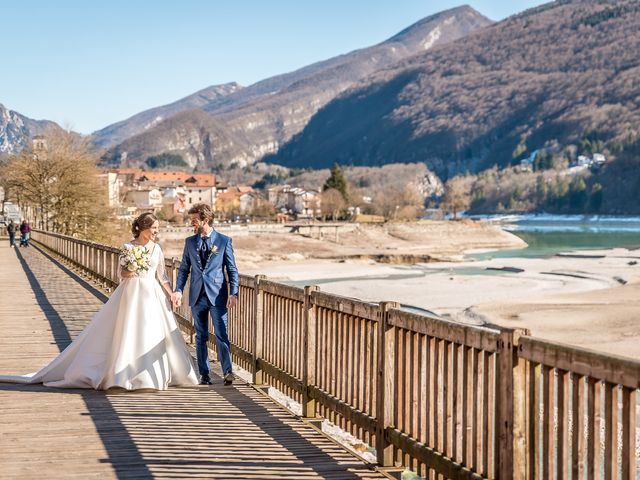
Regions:
M 191 307 L 193 323 L 196 329 L 196 357 L 198 358 L 198 370 L 200 375 L 209 375 L 209 350 L 207 339 L 209 338 L 209 314 L 213 320 L 213 332 L 216 336 L 216 350 L 218 360 L 222 366 L 222 374 L 231 373 L 231 344 L 227 334 L 227 307 L 218 307 L 209 301 L 204 289 L 198 301 Z

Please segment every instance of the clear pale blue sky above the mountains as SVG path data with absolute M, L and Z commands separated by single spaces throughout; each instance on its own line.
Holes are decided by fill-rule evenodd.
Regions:
M 468 1 L 492 20 L 545 3 Z M 90 133 L 381 42 L 451 0 L 4 0 L 0 103 Z

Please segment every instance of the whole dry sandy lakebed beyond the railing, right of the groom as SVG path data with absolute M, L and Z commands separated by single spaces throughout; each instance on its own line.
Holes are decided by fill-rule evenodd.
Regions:
M 365 227 L 338 243 L 293 234 L 234 238 L 245 274 L 640 357 L 639 250 L 463 260 L 465 251 L 523 246 L 514 235 L 475 222 Z M 402 263 L 410 256 L 418 263 Z

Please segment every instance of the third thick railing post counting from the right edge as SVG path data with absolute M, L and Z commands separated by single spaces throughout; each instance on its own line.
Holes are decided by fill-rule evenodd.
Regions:
M 304 287 L 304 320 L 302 323 L 302 339 L 304 343 L 302 363 L 302 416 L 316 416 L 316 401 L 309 395 L 309 387 L 316 385 L 316 352 L 317 352 L 317 335 L 316 335 L 316 311 L 311 293 L 320 290 L 319 287 L 312 285 Z

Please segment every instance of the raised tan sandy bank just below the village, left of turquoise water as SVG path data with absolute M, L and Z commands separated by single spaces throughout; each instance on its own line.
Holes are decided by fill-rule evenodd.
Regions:
M 483 222 L 424 221 L 386 225 L 360 225 L 335 236 L 329 230 L 319 240 L 295 233 L 242 234 L 220 231 L 233 238 L 241 271 L 256 270 L 272 263 L 302 260 L 366 260 L 382 263 L 461 260 L 465 251 L 522 248 L 518 237 Z M 284 230 L 283 230 L 284 232 Z M 163 243 L 167 257 L 180 257 L 183 239 Z

